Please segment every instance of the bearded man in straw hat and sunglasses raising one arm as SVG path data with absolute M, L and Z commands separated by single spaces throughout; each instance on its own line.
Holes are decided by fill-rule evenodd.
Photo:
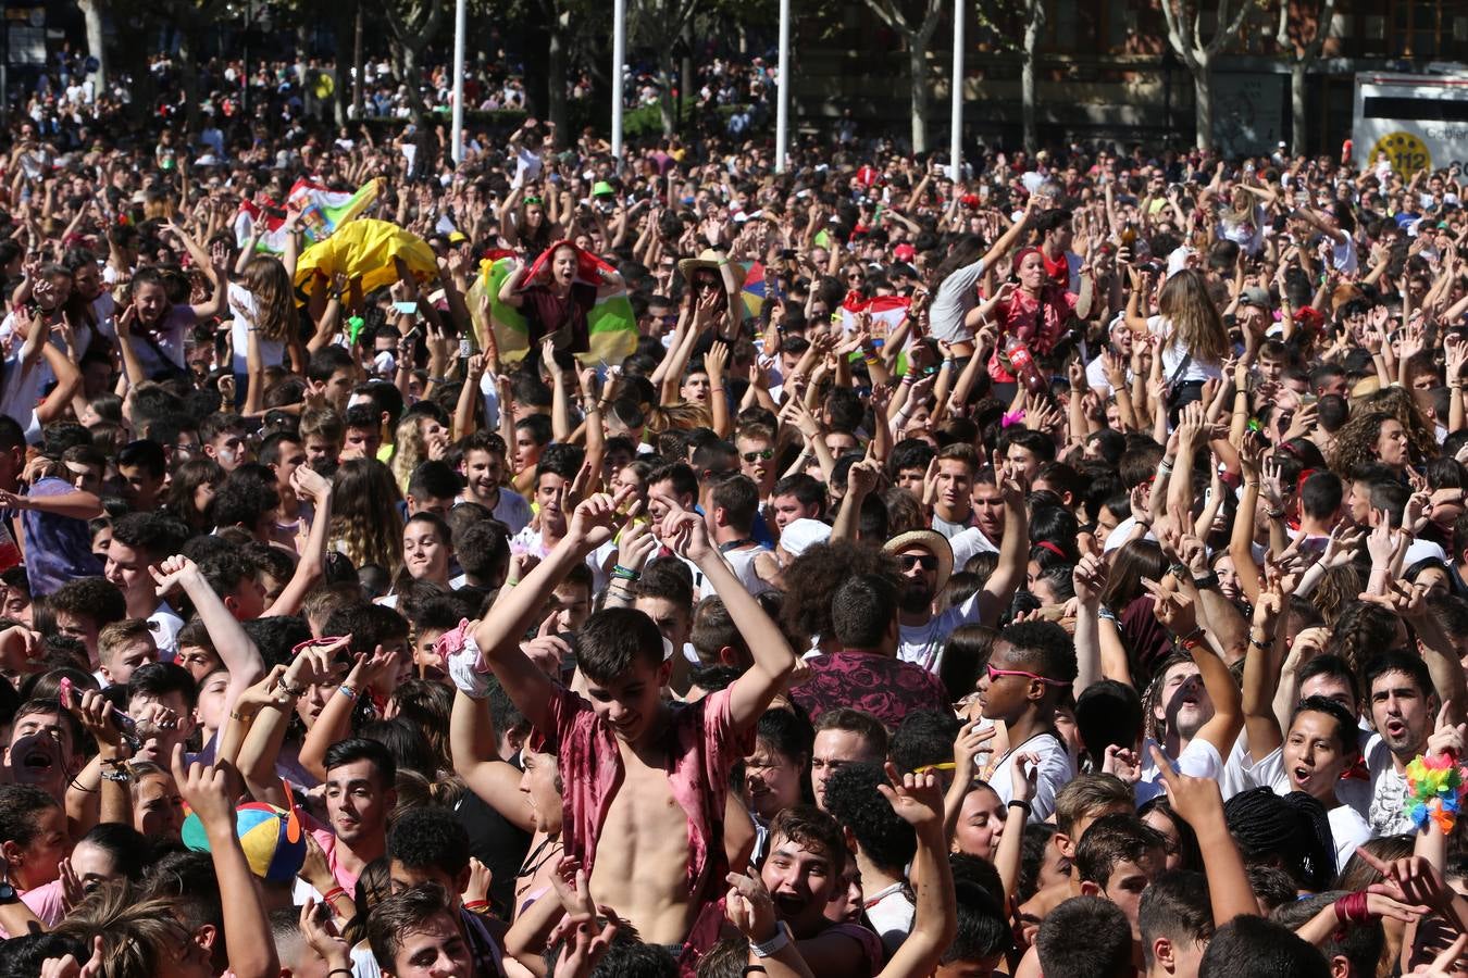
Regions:
M 1003 610 L 1014 598 L 1016 588 L 1025 581 L 1029 567 L 1025 487 L 1004 472 L 1001 491 L 1006 529 L 998 566 L 982 588 L 942 614 L 934 614 L 932 603 L 953 573 L 953 550 L 944 535 L 932 529 L 913 529 L 894 537 L 882 547 L 897 559 L 897 570 L 903 576 L 897 657 L 904 663 L 916 663 L 938 672 L 944 645 L 953 629 L 962 625 L 998 622 Z

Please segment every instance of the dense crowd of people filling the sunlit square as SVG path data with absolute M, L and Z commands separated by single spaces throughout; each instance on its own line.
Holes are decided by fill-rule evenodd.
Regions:
M 0 974 L 1468 971 L 1456 167 L 47 119 Z

